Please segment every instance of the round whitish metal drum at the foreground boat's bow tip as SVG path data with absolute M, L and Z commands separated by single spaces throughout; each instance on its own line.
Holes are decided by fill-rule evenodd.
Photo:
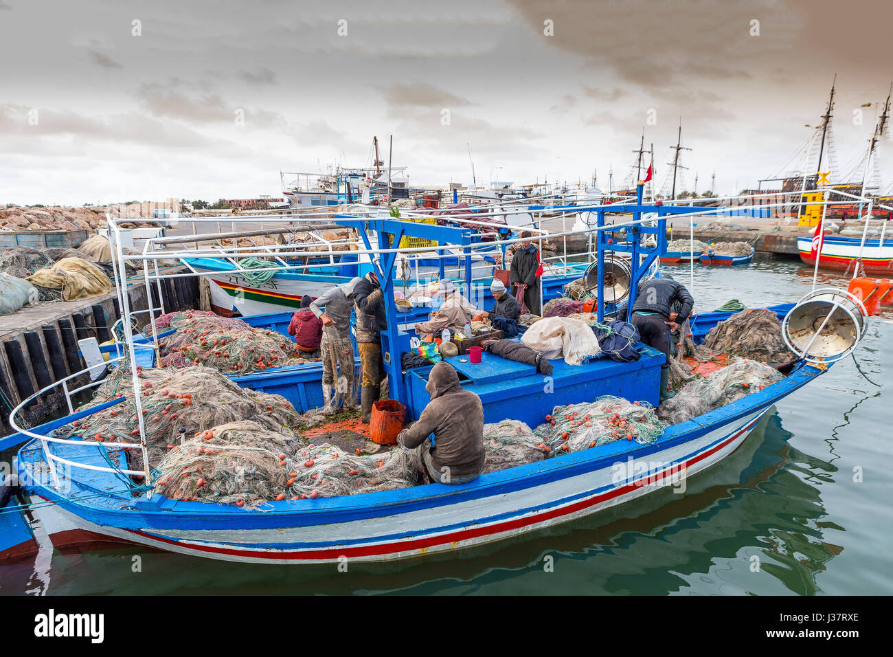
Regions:
M 781 323 L 789 350 L 809 362 L 838 360 L 855 350 L 868 313 L 851 292 L 822 288 L 806 294 Z

